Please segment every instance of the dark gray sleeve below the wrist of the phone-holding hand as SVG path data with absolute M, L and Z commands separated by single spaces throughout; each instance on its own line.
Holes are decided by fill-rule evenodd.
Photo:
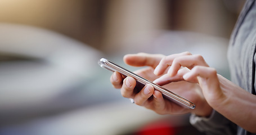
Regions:
M 213 110 L 213 113 L 209 118 L 191 114 L 190 123 L 199 131 L 211 135 L 233 135 L 237 132 L 236 124 L 232 123 L 215 110 Z

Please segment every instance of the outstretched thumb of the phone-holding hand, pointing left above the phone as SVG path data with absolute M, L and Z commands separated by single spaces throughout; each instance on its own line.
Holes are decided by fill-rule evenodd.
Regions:
M 137 53 L 124 56 L 124 62 L 131 66 L 151 66 L 155 68 L 164 55 Z

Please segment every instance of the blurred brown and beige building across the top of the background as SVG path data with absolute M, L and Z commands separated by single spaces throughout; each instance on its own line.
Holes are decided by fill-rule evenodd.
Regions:
M 244 0 L 2 0 L 0 21 L 50 29 L 110 51 L 145 42 L 157 36 L 159 30 L 229 38 L 243 3 Z

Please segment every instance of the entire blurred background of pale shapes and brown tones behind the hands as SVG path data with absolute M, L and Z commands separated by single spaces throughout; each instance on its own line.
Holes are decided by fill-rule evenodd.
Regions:
M 114 89 L 101 57 L 200 53 L 229 78 L 244 0 L 1 0 L 0 134 L 203 134 Z

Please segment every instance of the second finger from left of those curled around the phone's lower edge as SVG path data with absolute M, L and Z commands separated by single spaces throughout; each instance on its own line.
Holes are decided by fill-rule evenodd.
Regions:
M 134 98 L 134 88 L 136 86 L 136 80 L 132 77 L 127 77 L 123 81 L 123 86 L 120 89 L 123 97 Z

